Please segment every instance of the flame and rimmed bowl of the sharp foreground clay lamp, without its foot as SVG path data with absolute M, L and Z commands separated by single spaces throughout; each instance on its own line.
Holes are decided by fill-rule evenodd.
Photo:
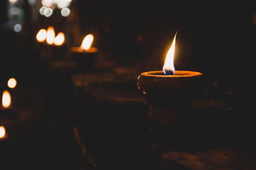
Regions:
M 148 71 L 138 77 L 138 89 L 143 94 L 190 94 L 200 87 L 199 80 L 202 73 L 196 71 L 175 71 L 173 57 L 175 55 L 175 38 L 166 55 L 163 71 Z

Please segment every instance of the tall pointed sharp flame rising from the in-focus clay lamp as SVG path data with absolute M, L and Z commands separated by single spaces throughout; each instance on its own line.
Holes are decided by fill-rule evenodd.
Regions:
M 174 57 L 174 49 L 175 49 L 175 39 L 176 39 L 177 32 L 173 38 L 172 45 L 166 55 L 163 72 L 166 75 L 172 75 L 175 72 L 174 64 L 173 64 L 173 57 Z

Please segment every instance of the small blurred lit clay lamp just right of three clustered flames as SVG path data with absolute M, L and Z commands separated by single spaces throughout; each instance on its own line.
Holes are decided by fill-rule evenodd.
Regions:
M 98 49 L 92 46 L 93 35 L 88 34 L 84 37 L 81 46 L 70 48 L 72 60 L 83 70 L 93 69 L 93 64 L 98 56 Z

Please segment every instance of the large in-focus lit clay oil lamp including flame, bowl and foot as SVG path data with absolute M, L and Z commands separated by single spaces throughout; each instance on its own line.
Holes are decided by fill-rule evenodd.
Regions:
M 174 115 L 189 108 L 204 85 L 200 72 L 175 71 L 173 57 L 176 35 L 166 55 L 163 70 L 148 71 L 138 77 L 138 89 L 151 104 L 149 115 L 160 124 L 177 122 Z

